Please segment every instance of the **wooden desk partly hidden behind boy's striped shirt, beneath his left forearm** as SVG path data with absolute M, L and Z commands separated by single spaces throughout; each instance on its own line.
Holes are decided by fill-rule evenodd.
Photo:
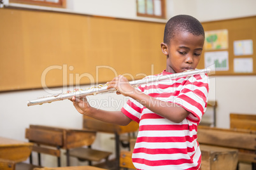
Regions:
M 98 121 L 96 119 L 83 115 L 83 128 L 87 130 L 92 130 L 92 131 L 115 134 L 116 169 L 119 169 L 119 162 L 120 162 L 119 135 L 122 133 L 133 133 L 138 131 L 139 124 L 137 122 L 131 121 L 127 126 L 118 126 L 117 124 L 110 124 L 110 123 Z

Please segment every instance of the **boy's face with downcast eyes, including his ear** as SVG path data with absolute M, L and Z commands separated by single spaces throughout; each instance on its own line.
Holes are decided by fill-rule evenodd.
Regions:
M 166 72 L 178 73 L 196 69 L 204 46 L 203 36 L 189 32 L 178 32 L 168 44 L 161 43 L 162 52 L 167 56 Z

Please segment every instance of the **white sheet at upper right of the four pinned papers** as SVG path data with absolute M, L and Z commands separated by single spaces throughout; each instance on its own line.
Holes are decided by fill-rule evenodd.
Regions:
M 234 55 L 253 55 L 252 39 L 234 41 Z

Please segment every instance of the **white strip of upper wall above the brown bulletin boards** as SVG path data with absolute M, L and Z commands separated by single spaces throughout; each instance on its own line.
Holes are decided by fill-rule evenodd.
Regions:
M 6 6 L 20 6 L 39 10 L 66 11 L 87 15 L 166 22 L 166 20 L 136 16 L 136 0 L 66 0 L 66 9 L 13 4 L 9 3 L 9 0 L 3 0 L 3 2 Z M 256 1 L 254 0 L 166 0 L 166 18 L 168 19 L 178 14 L 192 15 L 201 22 L 241 18 L 255 15 L 255 6 Z

